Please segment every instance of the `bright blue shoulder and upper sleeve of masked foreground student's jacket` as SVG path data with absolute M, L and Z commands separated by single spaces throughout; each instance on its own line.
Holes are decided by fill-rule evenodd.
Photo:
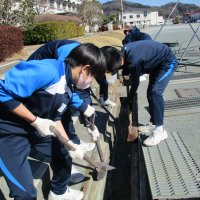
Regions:
M 44 78 L 45 77 L 45 78 Z M 40 88 L 52 84 L 54 72 L 45 71 L 45 67 L 33 62 L 21 62 L 8 71 L 4 80 L 0 80 L 0 103 L 7 110 L 13 110 L 21 102 Z

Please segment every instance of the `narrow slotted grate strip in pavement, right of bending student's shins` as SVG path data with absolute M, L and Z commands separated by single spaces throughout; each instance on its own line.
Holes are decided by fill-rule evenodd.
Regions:
M 165 110 L 200 107 L 200 97 L 181 98 L 165 101 Z

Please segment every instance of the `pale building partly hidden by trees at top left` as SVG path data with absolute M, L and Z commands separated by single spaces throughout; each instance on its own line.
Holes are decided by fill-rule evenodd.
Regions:
M 77 5 L 81 0 L 34 0 L 34 7 L 38 14 L 77 13 Z M 13 9 L 20 6 L 20 1 L 13 3 Z

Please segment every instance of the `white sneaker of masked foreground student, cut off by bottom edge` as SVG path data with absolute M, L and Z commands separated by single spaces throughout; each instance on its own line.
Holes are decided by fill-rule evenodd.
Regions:
M 67 191 L 64 194 L 58 195 L 54 192 L 50 191 L 48 200 L 81 200 L 83 199 L 83 192 L 79 190 L 73 190 L 69 187 L 67 188 Z

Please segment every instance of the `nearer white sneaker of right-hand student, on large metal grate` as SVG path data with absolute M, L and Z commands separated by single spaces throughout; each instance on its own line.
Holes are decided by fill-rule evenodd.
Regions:
M 155 146 L 159 144 L 162 140 L 167 139 L 167 131 L 163 130 L 162 132 L 154 130 L 153 133 L 143 142 L 146 146 Z

